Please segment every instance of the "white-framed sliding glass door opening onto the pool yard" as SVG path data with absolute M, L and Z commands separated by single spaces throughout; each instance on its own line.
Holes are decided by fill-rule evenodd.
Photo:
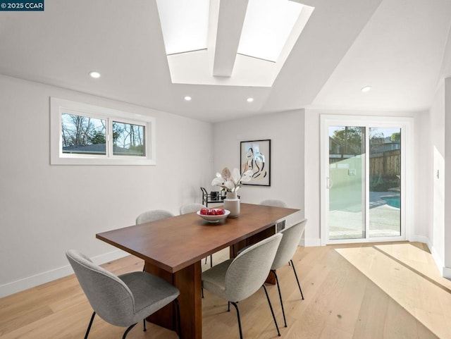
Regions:
M 321 122 L 321 238 L 326 243 L 405 238 L 402 126 L 348 122 Z

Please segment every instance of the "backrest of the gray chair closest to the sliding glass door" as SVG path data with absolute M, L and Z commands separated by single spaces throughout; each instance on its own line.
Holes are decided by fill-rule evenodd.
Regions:
M 278 269 L 279 267 L 288 264 L 292 259 L 295 255 L 297 246 L 299 245 L 299 241 L 301 241 L 306 223 L 307 219 L 304 219 L 303 221 L 280 231 L 280 233 L 283 234 L 283 238 L 280 241 L 271 269 Z

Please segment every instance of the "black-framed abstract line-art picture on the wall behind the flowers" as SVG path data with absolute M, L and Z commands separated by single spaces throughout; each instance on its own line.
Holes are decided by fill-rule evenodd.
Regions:
M 240 142 L 240 168 L 245 164 L 254 173 L 242 185 L 271 186 L 271 139 Z

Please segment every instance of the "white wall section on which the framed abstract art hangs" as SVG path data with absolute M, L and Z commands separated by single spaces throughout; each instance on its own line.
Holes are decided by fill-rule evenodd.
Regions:
M 266 139 L 271 139 L 271 186 L 243 185 L 238 194 L 242 202 L 281 199 L 288 207 L 301 209 L 288 219 L 290 224 L 304 217 L 304 110 L 215 123 L 214 173 L 224 167 L 240 168 L 241 141 Z M 209 184 L 206 190 L 216 188 Z

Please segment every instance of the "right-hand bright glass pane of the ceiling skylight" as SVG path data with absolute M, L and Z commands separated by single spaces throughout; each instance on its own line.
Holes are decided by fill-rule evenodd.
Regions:
M 276 62 L 302 4 L 288 0 L 249 0 L 238 53 Z

